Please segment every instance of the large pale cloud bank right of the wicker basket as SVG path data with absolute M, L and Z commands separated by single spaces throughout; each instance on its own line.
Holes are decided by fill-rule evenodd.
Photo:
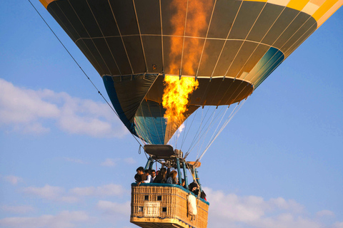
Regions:
M 224 194 L 205 187 L 210 204 L 209 224 L 212 227 L 322 228 L 324 221 L 310 217 L 304 206 L 292 199 L 263 199 L 257 196 Z M 332 216 L 323 210 L 317 216 Z M 339 227 L 339 223 L 334 224 Z M 341 228 L 341 227 L 339 227 Z

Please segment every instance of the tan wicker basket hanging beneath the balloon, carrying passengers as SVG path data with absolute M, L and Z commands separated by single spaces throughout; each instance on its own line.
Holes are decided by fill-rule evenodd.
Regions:
M 207 227 L 209 203 L 197 199 L 197 216 L 189 216 L 187 196 L 179 185 L 131 185 L 130 222 L 139 227 Z

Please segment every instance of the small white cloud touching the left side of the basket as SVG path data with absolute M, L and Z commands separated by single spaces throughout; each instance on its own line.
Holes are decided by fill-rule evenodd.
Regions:
M 96 205 L 101 211 L 103 211 L 106 214 L 123 214 L 126 217 L 129 217 L 129 214 L 131 212 L 131 202 L 124 202 L 123 204 L 119 204 L 116 202 L 109 202 L 100 200 L 98 204 Z

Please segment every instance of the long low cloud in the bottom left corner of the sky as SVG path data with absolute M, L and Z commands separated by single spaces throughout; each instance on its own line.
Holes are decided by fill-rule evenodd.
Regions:
M 70 228 L 89 221 L 86 212 L 63 211 L 56 215 L 46 214 L 40 217 L 9 217 L 0 219 L 1 227 L 13 228 Z

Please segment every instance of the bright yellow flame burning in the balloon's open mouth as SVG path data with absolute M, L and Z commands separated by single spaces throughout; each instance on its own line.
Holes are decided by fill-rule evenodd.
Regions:
M 182 123 L 185 119 L 184 113 L 188 110 L 189 94 L 193 93 L 199 86 L 194 78 L 176 76 L 165 76 L 164 94 L 162 105 L 166 109 L 164 118 L 169 123 Z

